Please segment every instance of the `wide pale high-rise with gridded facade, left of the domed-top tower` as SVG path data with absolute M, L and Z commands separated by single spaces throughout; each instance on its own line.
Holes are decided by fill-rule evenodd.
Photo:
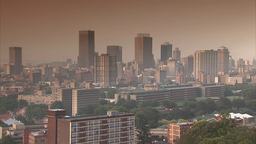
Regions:
M 218 74 L 218 51 L 204 49 L 194 52 L 194 78 L 199 78 L 200 71 L 210 75 L 210 82 L 215 81 Z

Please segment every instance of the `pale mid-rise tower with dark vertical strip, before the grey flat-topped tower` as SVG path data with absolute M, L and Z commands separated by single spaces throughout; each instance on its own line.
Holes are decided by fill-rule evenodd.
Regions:
M 95 56 L 95 83 L 104 87 L 116 86 L 116 56 L 101 54 Z

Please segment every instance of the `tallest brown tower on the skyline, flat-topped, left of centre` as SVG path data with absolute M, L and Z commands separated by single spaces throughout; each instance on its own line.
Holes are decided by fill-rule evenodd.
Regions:
M 78 68 L 90 68 L 94 66 L 95 40 L 94 31 L 79 31 L 79 56 Z

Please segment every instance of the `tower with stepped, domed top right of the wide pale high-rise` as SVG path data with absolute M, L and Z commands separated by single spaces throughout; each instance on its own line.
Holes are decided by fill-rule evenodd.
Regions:
M 218 72 L 228 72 L 229 70 L 229 51 L 222 46 L 218 48 Z

